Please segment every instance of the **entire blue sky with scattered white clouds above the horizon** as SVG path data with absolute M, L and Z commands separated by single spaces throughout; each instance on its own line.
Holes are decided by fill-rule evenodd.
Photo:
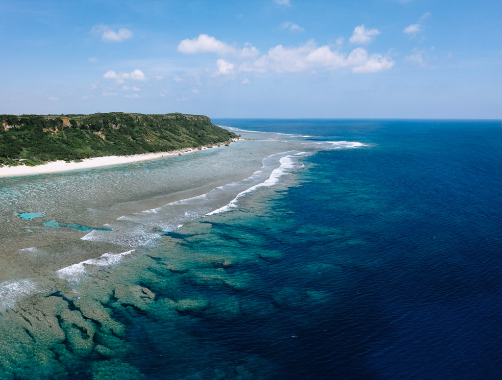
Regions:
M 0 2 L 0 113 L 502 118 L 499 0 Z

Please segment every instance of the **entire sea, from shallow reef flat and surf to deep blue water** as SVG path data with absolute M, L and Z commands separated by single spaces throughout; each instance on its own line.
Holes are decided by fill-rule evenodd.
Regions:
M 499 120 L 0 178 L 0 379 L 502 378 Z

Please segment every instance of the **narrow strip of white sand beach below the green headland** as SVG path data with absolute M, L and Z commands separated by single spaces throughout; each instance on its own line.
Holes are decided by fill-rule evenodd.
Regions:
M 244 140 L 244 139 L 232 139 L 232 142 Z M 220 143 L 221 146 L 225 146 L 226 143 Z M 166 156 L 179 156 L 186 153 L 193 153 L 199 150 L 205 150 L 210 148 L 218 148 L 217 145 L 200 147 L 200 148 L 185 148 L 177 151 L 170 152 L 157 152 L 157 153 L 142 153 L 137 155 L 129 156 L 104 156 L 104 157 L 92 157 L 85 158 L 82 162 L 66 162 L 66 161 L 51 161 L 47 164 L 37 165 L 37 166 L 5 166 L 0 168 L 0 178 L 2 177 L 18 177 L 18 176 L 28 176 L 36 174 L 48 174 L 48 173 L 61 173 L 61 172 L 71 172 L 74 170 L 92 169 L 100 168 L 105 166 L 113 166 L 120 164 L 130 164 L 133 162 L 153 160 L 156 158 L 162 158 Z

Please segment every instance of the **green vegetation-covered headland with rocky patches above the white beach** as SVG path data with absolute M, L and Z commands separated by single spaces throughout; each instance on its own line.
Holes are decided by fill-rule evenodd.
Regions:
M 182 113 L 0 115 L 0 165 L 168 152 L 236 137 L 207 116 Z

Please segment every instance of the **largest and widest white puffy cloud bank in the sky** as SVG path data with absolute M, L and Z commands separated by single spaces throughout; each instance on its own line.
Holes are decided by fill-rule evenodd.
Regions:
M 363 48 L 356 48 L 349 54 L 331 50 L 327 45 L 318 47 L 313 40 L 299 47 L 277 45 L 266 55 L 253 62 L 244 62 L 239 70 L 246 72 L 302 72 L 307 70 L 341 68 L 355 73 L 368 73 L 388 70 L 394 61 L 381 54 L 369 54 Z

